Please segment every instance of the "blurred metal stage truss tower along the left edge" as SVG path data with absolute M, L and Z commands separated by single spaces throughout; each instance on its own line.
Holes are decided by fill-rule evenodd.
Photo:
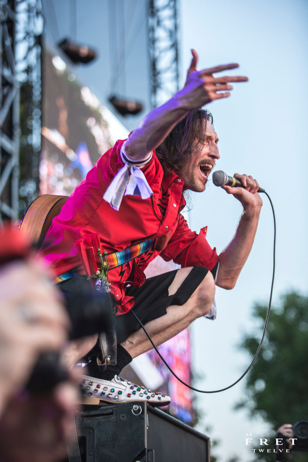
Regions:
M 0 223 L 18 219 L 38 195 L 42 25 L 39 0 L 0 0 Z

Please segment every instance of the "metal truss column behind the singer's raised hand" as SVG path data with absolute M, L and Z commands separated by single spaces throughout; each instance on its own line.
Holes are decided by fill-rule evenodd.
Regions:
M 178 14 L 176 0 L 148 0 L 151 106 L 179 89 Z

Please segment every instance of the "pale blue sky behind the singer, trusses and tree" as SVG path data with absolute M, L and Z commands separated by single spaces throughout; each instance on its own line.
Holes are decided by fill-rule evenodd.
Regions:
M 115 3 L 120 12 L 121 1 Z M 52 12 L 49 24 L 54 39 L 59 40 L 69 28 L 69 2 L 54 0 L 54 5 L 58 25 Z M 125 47 L 121 45 L 121 35 L 118 47 L 127 56 L 127 66 L 118 89 L 123 96 L 126 88 L 127 97 L 148 101 L 144 6 L 143 0 L 124 1 Z M 208 109 L 220 139 L 217 168 L 229 175 L 252 174 L 272 198 L 277 218 L 273 303 L 290 289 L 307 292 L 308 4 L 301 0 L 181 0 L 180 6 L 182 82 L 191 48 L 199 53 L 199 68 L 239 62 L 240 74 L 249 77 L 248 83 L 234 85 L 228 100 L 214 102 Z M 102 103 L 106 103 L 110 91 L 109 68 L 113 60 L 109 57 L 115 53 L 115 45 L 108 43 L 110 33 L 115 36 L 114 28 L 108 26 L 107 1 L 77 0 L 77 41 L 95 46 L 100 53 L 97 62 L 79 69 L 78 75 Z M 123 34 L 122 29 L 119 34 Z M 148 103 L 145 108 L 149 109 Z M 128 128 L 132 129 L 137 120 L 128 120 Z M 208 225 L 208 240 L 219 252 L 232 237 L 240 214 L 241 205 L 209 182 L 205 193 L 195 195 L 189 223 L 196 231 Z M 264 196 L 254 247 L 236 288 L 229 292 L 217 290 L 219 311 L 215 322 L 201 319 L 193 326 L 193 364 L 205 376 L 199 387 L 229 385 L 248 365 L 248 357 L 236 345 L 244 331 L 254 328 L 250 318 L 254 301 L 268 302 L 272 243 L 272 213 Z M 217 395 L 198 397 L 205 416 L 199 429 L 203 431 L 205 423 L 212 426 L 209 436 L 221 440 L 216 450 L 221 462 L 233 454 L 241 455 L 243 462 L 253 460 L 253 453 L 245 452 L 246 433 L 252 433 L 252 438 L 266 434 L 261 421 L 251 421 L 245 412 L 232 411 L 243 393 L 243 385 L 238 384 Z

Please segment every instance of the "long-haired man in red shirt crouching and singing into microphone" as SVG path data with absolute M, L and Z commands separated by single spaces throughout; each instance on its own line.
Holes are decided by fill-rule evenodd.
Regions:
M 144 387 L 134 389 L 119 377 L 132 358 L 152 347 L 131 310 L 156 345 L 196 318 L 211 317 L 215 284 L 225 289 L 235 286 L 254 242 L 262 200 L 252 176 L 235 175 L 243 188 L 223 187 L 242 203 L 243 213 L 235 236 L 220 255 L 207 243 L 205 228 L 197 235 L 181 215 L 183 192 L 204 191 L 220 157 L 212 116 L 199 108 L 229 97 L 233 88 L 229 82 L 248 80 L 213 76 L 236 64 L 197 71 L 198 55 L 194 50 L 192 54 L 184 87 L 97 161 L 53 220 L 41 249 L 64 290 L 85 281 L 78 248 L 90 235 L 99 237 L 102 253 L 117 259 L 108 272 L 116 318 L 124 325 L 124 333 L 118 334 L 117 364 L 107 365 L 103 372 L 96 360 L 88 366 L 91 376 L 99 378 L 95 383 L 106 389 L 99 394 L 106 401 L 169 402 L 168 396 L 148 393 Z M 157 255 L 179 263 L 181 269 L 146 280 L 143 270 Z M 79 360 L 96 340 L 68 347 L 67 358 L 72 363 Z

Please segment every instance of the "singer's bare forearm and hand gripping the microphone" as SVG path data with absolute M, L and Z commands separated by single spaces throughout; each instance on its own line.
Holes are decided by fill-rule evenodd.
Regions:
M 258 182 L 251 176 L 238 174 L 234 176 L 239 178 L 246 188 L 223 186 L 223 189 L 228 194 L 234 195 L 242 203 L 244 210 L 235 236 L 219 255 L 216 285 L 223 289 L 233 289 L 236 285 L 237 278 L 253 246 L 262 207 L 262 199 L 257 193 Z

